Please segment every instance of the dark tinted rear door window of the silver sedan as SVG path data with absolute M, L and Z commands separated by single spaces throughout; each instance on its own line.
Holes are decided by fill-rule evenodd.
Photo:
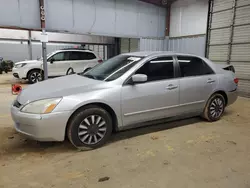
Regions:
M 178 56 L 182 77 L 213 74 L 213 70 L 200 58 Z

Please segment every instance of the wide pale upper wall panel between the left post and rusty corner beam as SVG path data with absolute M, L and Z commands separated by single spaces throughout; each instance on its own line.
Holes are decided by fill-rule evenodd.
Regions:
M 164 37 L 166 9 L 138 0 L 45 0 L 49 30 Z

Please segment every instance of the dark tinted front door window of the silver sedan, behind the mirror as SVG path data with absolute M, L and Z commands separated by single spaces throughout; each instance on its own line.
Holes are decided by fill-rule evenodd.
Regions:
M 146 74 L 148 81 L 174 78 L 174 62 L 172 57 L 161 57 L 145 63 L 136 74 Z

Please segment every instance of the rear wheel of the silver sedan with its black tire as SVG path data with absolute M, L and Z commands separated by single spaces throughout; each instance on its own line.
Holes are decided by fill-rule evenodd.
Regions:
M 218 121 L 223 115 L 225 107 L 225 98 L 221 94 L 216 93 L 208 100 L 202 116 L 209 122 Z

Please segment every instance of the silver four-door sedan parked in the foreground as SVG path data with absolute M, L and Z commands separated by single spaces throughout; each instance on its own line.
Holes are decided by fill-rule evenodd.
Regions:
M 192 116 L 217 121 L 237 100 L 237 87 L 234 71 L 206 58 L 127 53 L 27 87 L 11 114 L 15 129 L 32 139 L 97 148 L 128 128 Z

